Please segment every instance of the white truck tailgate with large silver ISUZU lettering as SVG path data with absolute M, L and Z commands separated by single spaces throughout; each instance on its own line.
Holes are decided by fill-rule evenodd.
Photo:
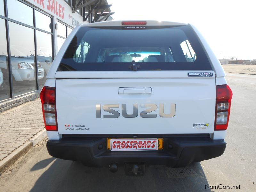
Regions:
M 215 92 L 215 78 L 56 79 L 58 131 L 213 133 Z

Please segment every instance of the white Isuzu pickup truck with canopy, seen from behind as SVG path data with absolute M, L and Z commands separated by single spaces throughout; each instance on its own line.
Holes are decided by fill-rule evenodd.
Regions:
M 167 21 L 84 24 L 68 36 L 40 94 L 53 157 L 124 167 L 221 156 L 232 91 L 197 29 Z

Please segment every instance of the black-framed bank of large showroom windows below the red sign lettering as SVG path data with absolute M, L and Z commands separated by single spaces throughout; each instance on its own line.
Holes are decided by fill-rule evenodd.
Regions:
M 40 90 L 54 55 L 52 18 L 18 0 L 6 0 L 9 6 L 4 13 L 3 2 L 0 0 L 0 102 Z

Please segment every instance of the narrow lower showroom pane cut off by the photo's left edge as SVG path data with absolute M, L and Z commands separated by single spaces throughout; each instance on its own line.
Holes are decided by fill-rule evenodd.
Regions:
M 5 29 L 5 20 L 0 19 L 0 29 Z M 6 33 L 0 35 L 0 101 L 11 97 L 8 71 Z

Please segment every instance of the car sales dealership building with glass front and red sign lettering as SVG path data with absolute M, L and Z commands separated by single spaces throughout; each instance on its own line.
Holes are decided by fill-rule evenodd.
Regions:
M 0 0 L 0 112 L 38 97 L 76 26 L 113 20 L 107 0 Z

